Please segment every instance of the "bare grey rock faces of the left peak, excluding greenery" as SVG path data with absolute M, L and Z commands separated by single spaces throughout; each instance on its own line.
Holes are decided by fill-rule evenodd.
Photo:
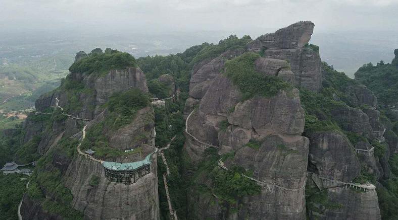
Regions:
M 102 53 L 100 50 L 99 48 L 95 49 L 92 53 L 100 54 Z M 86 56 L 83 51 L 78 52 L 75 61 L 78 62 Z M 69 115 L 93 120 L 88 122 L 72 117 L 53 120 L 51 128 L 45 130 L 39 143 L 38 152 L 42 155 L 47 155 L 51 149 L 56 148 L 60 139 L 80 138 L 79 141 L 81 141 L 81 129 L 84 125 L 94 126 L 107 117 L 109 112 L 104 104 L 112 95 L 132 88 L 137 88 L 142 92 L 148 91 L 145 76 L 138 67 L 114 69 L 102 74 L 71 72 L 68 80 L 74 81 L 75 85 L 82 85 L 82 88 L 80 87 L 74 93 L 77 95 L 73 94 L 73 88 L 71 92 L 70 89 L 61 85 L 54 92 L 41 96 L 36 101 L 36 109 L 40 112 L 50 107 L 58 110 L 62 107 L 64 112 Z M 56 107 L 56 103 L 59 107 Z M 79 106 L 76 107 L 76 104 Z M 41 121 L 28 120 L 25 126 L 28 131 L 25 135 L 26 140 L 44 131 Z M 142 143 L 142 141 L 151 140 L 154 126 L 154 110 L 152 107 L 146 107 L 138 110 L 131 123 L 116 131 L 106 132 L 105 136 L 111 148 L 126 150 L 136 148 L 138 145 L 142 146 L 140 154 L 137 152 L 137 154 L 127 157 L 111 157 L 109 159 L 121 163 L 143 160 L 147 154 L 154 151 L 152 146 L 148 145 L 151 144 L 150 142 Z M 109 128 L 104 127 L 103 129 Z M 76 152 L 77 145 L 73 148 L 72 151 Z M 84 214 L 84 219 L 160 218 L 156 154 L 152 156 L 151 172 L 130 185 L 110 182 L 105 177 L 101 163 L 77 153 L 74 153 L 73 158 L 68 158 L 62 152 L 52 153 L 52 155 L 52 166 L 60 170 L 62 182 L 73 195 L 70 205 L 81 211 Z M 91 183 L 93 178 L 97 178 L 98 181 L 94 185 Z M 55 199 L 51 194 L 45 194 L 45 196 L 47 199 Z M 62 216 L 45 211 L 40 202 L 32 200 L 27 195 L 25 197 L 22 203 L 24 219 L 63 219 Z

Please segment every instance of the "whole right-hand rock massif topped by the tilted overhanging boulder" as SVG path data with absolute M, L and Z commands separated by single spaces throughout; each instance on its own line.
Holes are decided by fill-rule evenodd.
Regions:
M 260 36 L 234 57 L 220 61 L 227 52 L 193 67 L 184 109 L 190 113 L 184 152 L 194 165 L 186 175 L 196 183 L 188 196 L 193 218 L 380 219 L 374 190 L 356 196 L 343 184 L 374 189 L 383 176 L 377 99 L 321 63 L 318 47 L 308 44 L 313 28 L 299 22 Z M 268 84 L 271 79 L 289 86 Z M 210 162 L 218 159 L 221 168 Z M 220 183 L 220 172 L 245 175 L 261 188 L 228 197 L 220 185 L 241 184 Z

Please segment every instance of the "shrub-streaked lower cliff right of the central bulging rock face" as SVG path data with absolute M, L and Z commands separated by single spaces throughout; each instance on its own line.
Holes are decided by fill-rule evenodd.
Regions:
M 310 138 L 308 171 L 314 173 L 307 180 L 307 214 L 310 219 L 380 219 L 374 190 L 357 195 L 344 184 L 377 185 L 382 172 L 377 148 L 384 140 L 377 99 L 326 63 L 322 68 L 322 91 L 301 91 Z

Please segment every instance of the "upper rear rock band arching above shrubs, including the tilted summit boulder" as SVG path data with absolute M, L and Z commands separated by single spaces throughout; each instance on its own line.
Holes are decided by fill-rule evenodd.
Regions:
M 184 115 L 187 116 L 193 109 L 192 106 L 198 103 L 198 99 L 206 94 L 223 69 L 225 61 L 245 51 L 259 52 L 266 58 L 287 61 L 290 70 L 294 73 L 294 85 L 320 91 L 322 88 L 321 59 L 317 46 L 308 44 L 314 26 L 312 22 L 298 22 L 279 29 L 275 33 L 262 35 L 254 41 L 246 40 L 244 47 L 230 46 L 229 50 L 219 53 L 216 58 L 195 63 L 189 83 L 190 98 L 186 102 Z M 219 45 L 221 43 L 224 42 L 220 42 Z M 281 72 L 281 74 L 284 73 Z

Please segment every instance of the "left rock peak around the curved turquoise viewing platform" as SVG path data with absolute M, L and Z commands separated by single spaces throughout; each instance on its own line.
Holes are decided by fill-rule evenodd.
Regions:
M 159 219 L 156 154 L 150 172 L 132 184 L 112 182 L 99 161 L 130 163 L 155 151 L 143 72 L 131 55 L 98 48 L 77 53 L 70 71 L 60 88 L 36 101 L 38 112 L 25 125 L 25 140 L 44 133 L 23 218 Z M 81 155 L 89 149 L 92 156 Z

